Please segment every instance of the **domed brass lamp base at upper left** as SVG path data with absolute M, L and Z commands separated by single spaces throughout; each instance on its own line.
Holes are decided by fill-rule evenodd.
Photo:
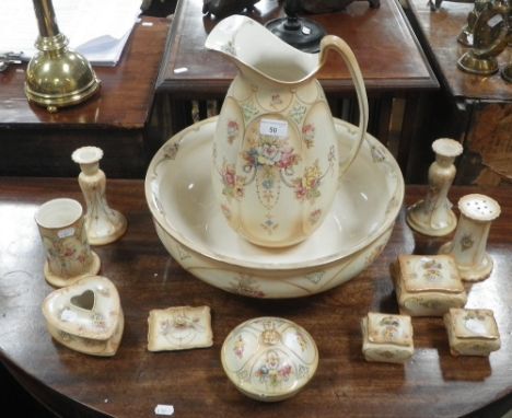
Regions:
M 68 39 L 58 34 L 39 36 L 36 54 L 26 68 L 25 94 L 28 101 L 45 106 L 48 112 L 79 104 L 95 94 L 101 86 L 89 61 L 67 48 Z

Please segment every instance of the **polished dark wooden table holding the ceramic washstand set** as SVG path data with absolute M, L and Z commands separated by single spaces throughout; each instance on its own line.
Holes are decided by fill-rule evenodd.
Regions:
M 467 306 L 494 311 L 501 349 L 489 358 L 450 355 L 439 317 L 414 318 L 416 351 L 405 365 L 368 363 L 360 320 L 369 311 L 396 313 L 389 264 L 402 253 L 433 254 L 443 243 L 412 233 L 399 214 L 383 254 L 351 281 L 296 300 L 255 300 L 210 287 L 184 271 L 154 232 L 141 181 L 109 181 L 113 208 L 128 218 L 126 235 L 95 247 L 101 272 L 117 286 L 125 311 L 123 341 L 112 358 L 74 352 L 54 341 L 40 304 L 53 290 L 43 277 L 44 252 L 34 213 L 55 197 L 81 199 L 74 179 L 0 178 L 0 360 L 28 391 L 65 417 L 153 417 L 158 404 L 177 417 L 458 417 L 512 394 L 512 195 L 504 188 L 451 190 L 453 201 L 479 191 L 502 205 L 491 227 L 491 277 L 468 287 Z M 426 188 L 408 186 L 406 202 Z M 213 347 L 149 352 L 152 309 L 209 305 Z M 276 404 L 252 400 L 224 375 L 220 348 L 229 332 L 252 317 L 277 315 L 315 338 L 319 367 L 296 396 Z M 499 416 L 499 415 L 494 415 Z

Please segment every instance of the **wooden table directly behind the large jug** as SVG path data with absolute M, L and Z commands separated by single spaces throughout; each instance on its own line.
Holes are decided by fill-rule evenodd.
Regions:
M 277 0 L 261 0 L 255 5 L 256 10 L 248 16 L 260 23 L 283 15 L 282 2 Z M 167 135 L 193 121 L 186 105 L 191 98 L 221 102 L 236 74 L 233 63 L 205 49 L 205 40 L 218 21 L 205 16 L 201 9 L 202 0 L 179 0 L 176 7 L 156 81 L 156 92 L 171 101 L 172 124 Z M 391 140 L 392 115 L 397 115 L 395 119 L 402 127 L 399 141 L 389 148 L 396 151 L 398 163 L 406 172 L 411 144 L 421 140 L 418 129 L 423 116 L 422 98 L 427 92 L 438 89 L 439 83 L 402 8 L 396 0 L 382 0 L 379 9 L 356 1 L 345 11 L 309 18 L 321 23 L 327 33 L 344 38 L 353 49 L 370 97 L 369 131 L 386 146 Z M 317 78 L 333 114 L 357 125 L 357 102 L 349 100 L 354 90 L 341 58 L 329 55 Z M 397 101 L 406 103 L 403 114 L 397 111 Z M 202 102 L 201 106 L 206 108 L 208 104 Z M 199 112 L 206 116 L 207 111 L 201 106 Z

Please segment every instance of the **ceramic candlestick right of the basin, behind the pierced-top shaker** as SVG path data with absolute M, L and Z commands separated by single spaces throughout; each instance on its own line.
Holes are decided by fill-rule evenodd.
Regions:
M 443 236 L 457 225 L 447 193 L 455 178 L 455 158 L 463 152 L 462 146 L 449 138 L 441 138 L 432 143 L 435 161 L 429 169 L 429 193 L 408 208 L 407 223 L 415 231 L 429 236 Z

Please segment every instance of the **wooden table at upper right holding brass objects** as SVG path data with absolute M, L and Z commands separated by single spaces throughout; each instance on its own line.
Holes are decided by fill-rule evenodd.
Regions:
M 457 59 L 468 50 L 456 38 L 474 4 L 443 1 L 435 12 L 427 1 L 409 0 L 409 14 L 431 58 L 444 95 L 430 124 L 434 136 L 456 138 L 465 147 L 457 182 L 497 185 L 512 178 L 512 83 L 499 72 L 481 77 L 461 71 Z M 500 68 L 512 62 L 512 48 L 498 56 Z M 428 128 L 428 127 L 426 127 Z

